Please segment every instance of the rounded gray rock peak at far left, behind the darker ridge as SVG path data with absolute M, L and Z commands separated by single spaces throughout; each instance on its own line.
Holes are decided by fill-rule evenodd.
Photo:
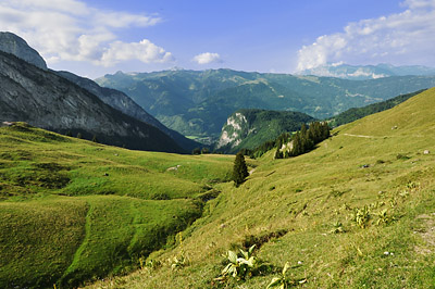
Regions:
M 46 61 L 39 55 L 38 51 L 29 47 L 23 38 L 12 33 L 0 33 L 0 51 L 14 54 L 18 59 L 47 71 Z

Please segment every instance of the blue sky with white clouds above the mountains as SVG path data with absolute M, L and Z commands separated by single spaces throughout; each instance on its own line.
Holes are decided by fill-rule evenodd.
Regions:
M 24 38 L 50 68 L 89 78 L 435 66 L 435 0 L 0 0 L 0 30 Z

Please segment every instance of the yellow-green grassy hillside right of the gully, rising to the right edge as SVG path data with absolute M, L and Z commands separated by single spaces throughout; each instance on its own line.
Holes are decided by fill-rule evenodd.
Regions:
M 90 288 L 224 287 L 213 281 L 225 264 L 222 254 L 282 229 L 287 234 L 257 250 L 271 269 L 228 287 L 265 288 L 289 262 L 291 278 L 307 278 L 303 288 L 435 288 L 434 105 L 430 89 L 337 128 L 308 154 L 287 160 L 265 154 L 239 188 L 219 185 L 223 192 L 185 233 L 182 246 L 151 254 L 161 268 Z M 364 205 L 371 221 L 360 228 L 350 215 Z M 376 225 L 384 209 L 394 221 Z M 331 233 L 337 221 L 345 233 Z M 172 271 L 166 260 L 181 250 L 190 263 Z

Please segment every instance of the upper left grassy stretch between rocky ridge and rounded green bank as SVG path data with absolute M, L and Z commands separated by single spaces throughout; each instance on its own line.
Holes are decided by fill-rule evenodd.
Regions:
M 129 151 L 16 124 L 0 128 L 0 196 L 37 192 L 195 197 L 229 177 L 232 158 Z M 165 196 L 163 196 L 165 194 Z

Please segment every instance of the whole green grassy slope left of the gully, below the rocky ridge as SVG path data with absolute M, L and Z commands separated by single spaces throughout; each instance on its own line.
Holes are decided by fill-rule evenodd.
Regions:
M 70 287 L 137 266 L 200 216 L 197 198 L 232 162 L 1 127 L 0 287 Z

